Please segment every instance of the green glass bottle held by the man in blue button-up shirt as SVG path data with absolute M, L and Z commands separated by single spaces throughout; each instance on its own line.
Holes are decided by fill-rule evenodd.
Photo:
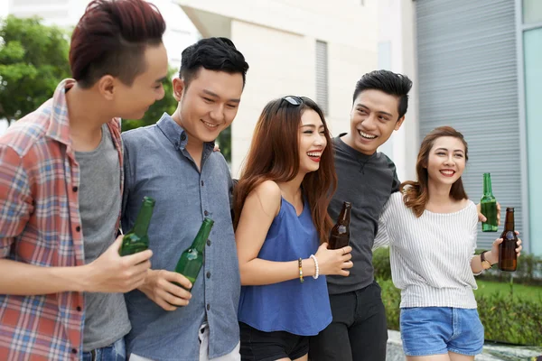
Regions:
M 210 229 L 213 224 L 214 221 L 212 219 L 203 219 L 198 235 L 194 238 L 192 245 L 182 252 L 181 258 L 179 258 L 179 262 L 175 267 L 175 272 L 181 273 L 192 282 L 192 285 L 196 282 L 196 278 L 198 278 L 201 266 L 203 265 L 205 242 L 209 238 Z

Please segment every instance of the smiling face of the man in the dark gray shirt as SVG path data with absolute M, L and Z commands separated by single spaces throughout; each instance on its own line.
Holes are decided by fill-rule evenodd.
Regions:
M 371 155 L 388 141 L 394 130 L 405 120 L 399 119 L 398 97 L 381 90 L 369 89 L 360 93 L 350 112 L 350 134 L 345 142 L 360 153 Z

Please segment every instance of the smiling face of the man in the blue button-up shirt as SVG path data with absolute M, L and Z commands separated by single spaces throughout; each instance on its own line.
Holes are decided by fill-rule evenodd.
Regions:
M 237 115 L 243 76 L 201 68 L 188 87 L 173 79 L 174 97 L 179 106 L 173 115 L 188 134 L 189 143 L 212 142 Z

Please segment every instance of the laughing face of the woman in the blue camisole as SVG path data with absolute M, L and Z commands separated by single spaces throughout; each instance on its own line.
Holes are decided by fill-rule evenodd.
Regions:
M 318 171 L 326 145 L 322 119 L 313 109 L 306 109 L 299 125 L 299 171 Z

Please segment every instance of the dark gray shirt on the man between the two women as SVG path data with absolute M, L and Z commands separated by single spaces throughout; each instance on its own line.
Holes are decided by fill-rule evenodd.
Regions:
M 350 245 L 354 266 L 348 277 L 327 276 L 331 294 L 360 290 L 373 282 L 372 245 L 378 232 L 378 218 L 400 184 L 395 164 L 386 154 L 360 153 L 344 143 L 342 135 L 333 139 L 339 184 L 328 212 L 336 222 L 342 202 L 352 203 Z

